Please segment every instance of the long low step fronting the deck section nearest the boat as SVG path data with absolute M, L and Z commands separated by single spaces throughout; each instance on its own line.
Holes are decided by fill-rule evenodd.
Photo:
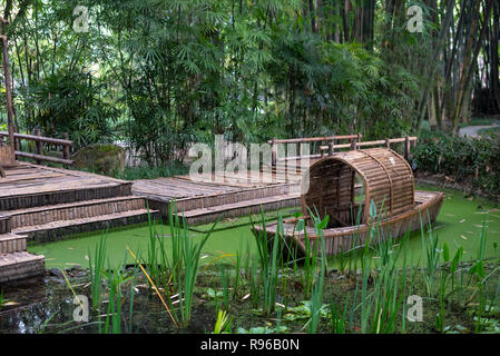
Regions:
M 186 224 L 213 222 L 217 218 L 233 218 L 249 214 L 292 208 L 301 205 L 300 194 L 288 194 L 259 199 L 242 200 L 234 204 L 219 205 L 202 209 L 193 209 L 177 214 L 179 218 L 185 218 Z

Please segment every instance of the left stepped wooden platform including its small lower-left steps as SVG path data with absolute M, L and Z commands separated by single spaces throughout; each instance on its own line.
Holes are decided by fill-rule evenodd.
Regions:
M 45 257 L 27 241 L 147 221 L 144 197 L 131 182 L 88 172 L 20 162 L 0 178 L 0 284 L 40 276 Z

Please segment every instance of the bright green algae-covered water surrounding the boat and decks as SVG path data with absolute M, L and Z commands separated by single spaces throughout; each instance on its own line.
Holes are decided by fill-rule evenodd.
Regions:
M 439 237 L 439 246 L 447 241 L 450 253 L 454 254 L 460 246 L 464 249 L 463 259 L 477 257 L 480 244 L 480 236 L 483 225 L 487 227 L 486 258 L 498 257 L 500 255 L 500 208 L 498 204 L 481 198 L 465 198 L 463 192 L 450 189 L 440 189 L 431 186 L 420 186 L 420 190 L 444 191 L 447 198 L 435 224 L 431 227 L 433 234 Z M 293 209 L 283 211 L 290 215 Z M 276 212 L 267 214 L 267 217 L 275 218 Z M 254 221 L 258 221 L 258 216 L 254 216 Z M 256 251 L 255 239 L 251 233 L 249 219 L 228 219 L 219 222 L 217 229 L 212 233 L 204 247 L 203 257 L 206 260 L 214 260 L 219 257 L 233 258 L 235 254 Z M 188 231 L 193 238 L 203 237 L 210 229 L 212 225 L 193 227 Z M 104 233 L 99 231 L 88 236 L 76 236 L 57 243 L 43 245 L 32 245 L 28 250 L 46 256 L 47 268 L 65 268 L 79 265 L 88 267 L 89 251 L 94 250 L 102 235 L 107 236 L 106 265 L 118 266 L 119 264 L 134 264 L 127 253 L 127 246 L 138 255 L 146 255 L 149 245 L 149 227 L 136 226 L 122 230 Z M 169 240 L 170 229 L 166 225 L 154 226 L 154 235 L 163 238 L 167 251 L 171 246 Z M 408 248 L 410 251 L 409 261 L 412 265 L 419 263 L 422 256 L 421 233 L 411 234 Z M 378 256 L 373 256 L 378 258 Z

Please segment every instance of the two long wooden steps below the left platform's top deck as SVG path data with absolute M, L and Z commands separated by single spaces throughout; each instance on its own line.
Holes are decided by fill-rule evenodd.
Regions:
M 12 233 L 46 243 L 62 236 L 148 220 L 143 197 L 116 197 L 9 211 Z M 149 210 L 153 217 L 157 210 Z

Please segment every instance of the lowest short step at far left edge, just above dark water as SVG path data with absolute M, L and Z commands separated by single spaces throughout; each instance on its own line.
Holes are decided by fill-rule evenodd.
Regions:
M 27 251 L 0 255 L 0 284 L 41 276 L 45 273 L 45 257 Z

